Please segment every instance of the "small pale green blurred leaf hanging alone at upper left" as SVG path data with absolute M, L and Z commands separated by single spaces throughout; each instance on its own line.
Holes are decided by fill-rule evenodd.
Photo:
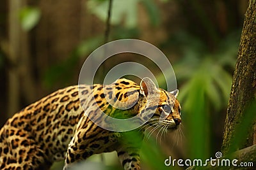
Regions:
M 41 17 L 41 11 L 35 7 L 24 7 L 20 11 L 20 24 L 24 31 L 30 31 L 38 24 Z

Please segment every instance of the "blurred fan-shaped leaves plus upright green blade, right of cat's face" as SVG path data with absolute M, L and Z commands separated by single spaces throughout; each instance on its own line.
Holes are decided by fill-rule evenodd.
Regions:
M 182 60 L 174 65 L 180 86 L 179 100 L 187 131 L 188 155 L 193 159 L 207 159 L 216 152 L 212 134 L 213 120 L 221 117 L 220 110 L 227 107 L 232 74 L 239 43 L 239 34 L 232 33 L 211 52 L 195 37 L 178 34 L 175 38 L 182 48 Z M 173 43 L 177 45 L 177 41 Z M 217 124 L 218 125 L 218 124 Z

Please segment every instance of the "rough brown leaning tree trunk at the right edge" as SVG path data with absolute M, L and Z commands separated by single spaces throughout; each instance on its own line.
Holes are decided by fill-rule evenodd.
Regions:
M 255 98 L 256 92 L 256 2 L 249 1 L 244 17 L 243 31 L 239 51 L 237 54 L 236 69 L 232 82 L 232 89 L 228 102 L 227 117 L 223 133 L 222 152 L 227 153 L 234 135 L 234 127 L 239 124 L 244 110 Z M 242 148 L 253 145 L 253 129 Z

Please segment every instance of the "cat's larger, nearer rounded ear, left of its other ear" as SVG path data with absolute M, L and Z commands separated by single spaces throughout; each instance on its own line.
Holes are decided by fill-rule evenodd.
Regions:
M 140 82 L 140 93 L 147 97 L 154 92 L 157 92 L 155 83 L 148 77 L 143 78 Z

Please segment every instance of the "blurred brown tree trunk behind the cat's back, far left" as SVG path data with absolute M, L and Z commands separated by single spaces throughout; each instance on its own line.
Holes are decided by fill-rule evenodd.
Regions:
M 20 110 L 21 99 L 25 103 L 36 99 L 29 35 L 22 30 L 19 19 L 20 10 L 26 4 L 27 0 L 9 1 L 8 117 Z

